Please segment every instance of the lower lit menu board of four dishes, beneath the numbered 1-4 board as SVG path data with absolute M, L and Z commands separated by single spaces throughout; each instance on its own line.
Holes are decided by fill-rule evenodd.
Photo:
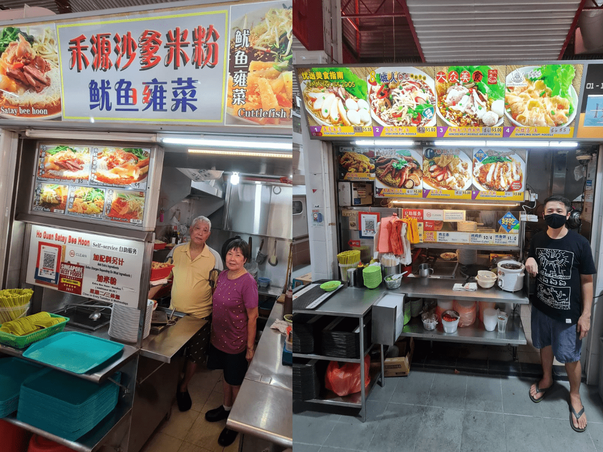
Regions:
M 523 201 L 525 149 L 338 148 L 339 180 L 374 181 L 380 198 Z

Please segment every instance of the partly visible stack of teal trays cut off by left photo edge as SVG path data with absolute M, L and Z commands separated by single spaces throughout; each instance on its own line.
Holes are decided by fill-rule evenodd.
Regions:
M 0 359 L 0 418 L 17 410 L 21 383 L 41 369 L 42 366 L 19 358 Z

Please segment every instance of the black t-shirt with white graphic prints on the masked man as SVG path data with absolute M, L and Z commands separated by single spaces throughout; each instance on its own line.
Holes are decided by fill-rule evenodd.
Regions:
M 577 323 L 582 313 L 580 275 L 596 273 L 589 241 L 572 230 L 560 239 L 543 231 L 532 239 L 528 257 L 538 264 L 532 304 L 558 321 Z

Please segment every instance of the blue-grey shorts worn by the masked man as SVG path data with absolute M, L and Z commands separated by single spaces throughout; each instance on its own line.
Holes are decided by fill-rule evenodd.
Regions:
M 568 325 L 550 318 L 532 305 L 532 343 L 535 348 L 553 348 L 553 355 L 560 363 L 580 360 L 582 341 L 576 331 L 576 324 Z

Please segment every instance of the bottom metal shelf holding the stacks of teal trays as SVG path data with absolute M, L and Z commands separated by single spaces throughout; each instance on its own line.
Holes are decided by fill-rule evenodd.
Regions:
M 40 430 L 40 428 L 17 420 L 14 415 L 3 419 L 11 424 L 17 425 L 18 427 L 24 428 L 24 430 L 27 430 L 28 432 L 51 439 L 52 441 L 65 445 L 66 447 L 69 447 L 77 452 L 93 452 L 98 450 L 100 445 L 104 444 L 105 438 L 108 438 L 116 429 L 121 427 L 124 422 L 128 421 L 131 412 L 131 407 L 120 406 L 118 404 L 118 406 L 115 407 L 115 409 L 109 413 L 109 415 L 107 415 L 98 425 L 96 425 L 95 428 L 79 438 L 77 441 L 69 441 L 68 439 L 63 439 L 60 436 L 52 435 L 52 433 L 48 433 L 45 430 Z

